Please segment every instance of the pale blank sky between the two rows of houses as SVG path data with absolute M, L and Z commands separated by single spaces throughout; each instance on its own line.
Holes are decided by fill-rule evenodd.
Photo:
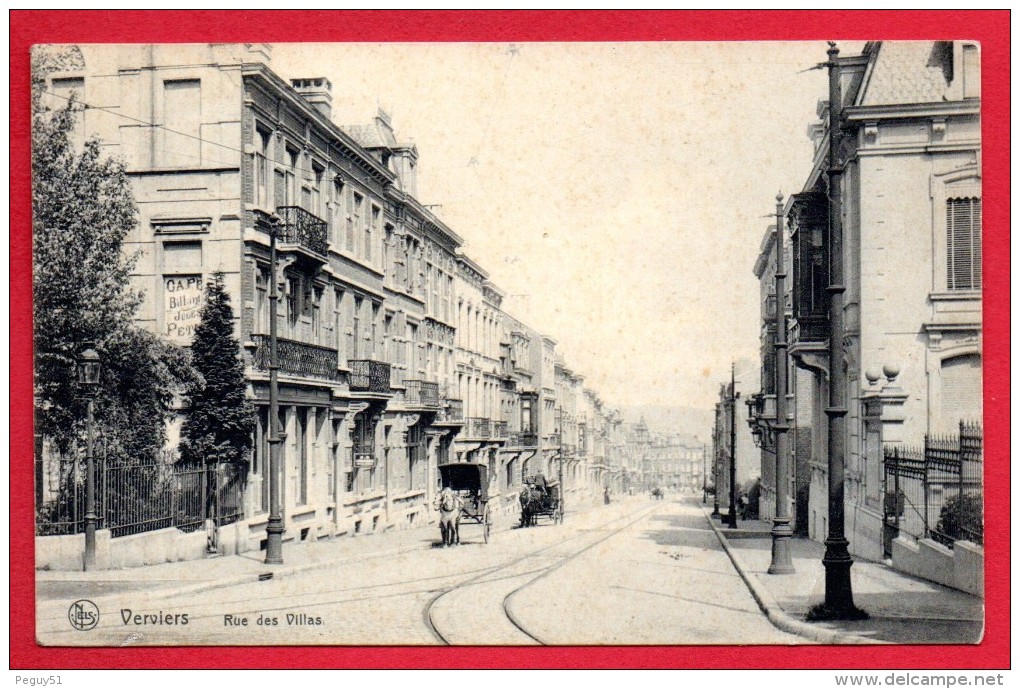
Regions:
M 419 200 L 604 400 L 709 408 L 758 358 L 752 268 L 810 171 L 826 47 L 274 44 L 272 68 L 329 79 L 338 125 L 389 112 Z

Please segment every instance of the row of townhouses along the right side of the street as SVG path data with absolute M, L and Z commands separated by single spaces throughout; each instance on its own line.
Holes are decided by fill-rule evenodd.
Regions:
M 716 439 L 724 449 L 717 460 L 725 463 L 728 454 L 728 424 L 735 420 L 744 435 L 750 424 L 760 448 L 754 474 L 762 480 L 763 519 L 776 513 L 776 486 L 785 482 L 794 532 L 825 540 L 832 446 L 826 412 L 829 386 L 842 378 L 846 398 L 836 407 L 846 408 L 840 493 L 850 551 L 908 561 L 913 551 L 905 539 L 922 549 L 926 541 L 968 540 L 968 534 L 945 533 L 940 519 L 953 501 L 980 496 L 979 47 L 872 42 L 834 64 L 840 101 L 819 102 L 818 120 L 809 128 L 812 165 L 803 188 L 780 200 L 783 294 L 775 288 L 774 224 L 761 241 L 754 265 L 760 385 L 738 383 L 745 399 L 735 403 L 723 386 Z M 832 107 L 839 127 L 834 165 Z M 838 188 L 829 188 L 832 179 Z M 830 261 L 832 213 L 843 234 L 837 274 Z M 830 332 L 831 275 L 842 276 L 845 287 L 839 333 Z M 776 375 L 782 322 L 785 382 Z M 830 359 L 832 338 L 842 340 L 842 360 Z M 747 391 L 756 388 L 749 399 Z M 786 397 L 789 427 L 789 471 L 778 477 L 777 395 Z M 741 454 L 747 457 L 746 450 Z M 969 536 L 979 542 L 979 535 Z M 936 576 L 930 567 L 922 570 Z

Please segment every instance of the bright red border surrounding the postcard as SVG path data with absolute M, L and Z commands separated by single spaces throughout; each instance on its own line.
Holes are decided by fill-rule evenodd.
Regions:
M 10 17 L 10 668 L 1008 669 L 1010 667 L 1010 13 L 1008 10 L 12 10 Z M 37 43 L 778 41 L 982 44 L 985 600 L 976 646 L 51 648 L 34 634 L 29 50 Z

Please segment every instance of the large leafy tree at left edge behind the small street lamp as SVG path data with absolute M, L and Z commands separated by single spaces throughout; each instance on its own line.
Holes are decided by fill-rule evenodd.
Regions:
M 36 431 L 60 451 L 81 438 L 86 402 L 74 372 L 91 345 L 103 364 L 96 420 L 108 460 L 151 460 L 165 444 L 174 393 L 193 374 L 187 352 L 134 325 L 143 295 L 131 286 L 137 254 L 123 251 L 138 217 L 131 180 L 98 140 L 75 146 L 74 98 L 44 107 L 45 57 L 33 54 Z

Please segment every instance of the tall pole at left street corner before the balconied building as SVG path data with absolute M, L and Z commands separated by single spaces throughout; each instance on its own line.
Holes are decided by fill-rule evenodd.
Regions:
M 279 286 L 276 284 L 276 235 L 279 220 L 273 218 L 269 226 L 269 522 L 265 527 L 265 563 L 284 562 L 284 515 L 279 500 L 280 450 L 284 434 L 279 429 L 279 352 L 276 350 L 276 302 Z

